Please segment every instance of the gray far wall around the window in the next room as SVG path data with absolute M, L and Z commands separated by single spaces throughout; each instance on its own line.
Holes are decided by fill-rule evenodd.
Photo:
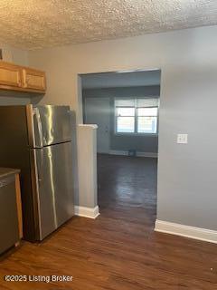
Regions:
M 110 150 L 137 150 L 140 152 L 157 153 L 157 136 L 137 136 L 115 134 L 114 100 L 117 97 L 147 97 L 160 95 L 160 86 L 125 87 L 108 89 L 86 89 L 82 91 L 83 98 L 109 98 L 110 99 Z M 85 111 L 84 111 L 85 121 Z

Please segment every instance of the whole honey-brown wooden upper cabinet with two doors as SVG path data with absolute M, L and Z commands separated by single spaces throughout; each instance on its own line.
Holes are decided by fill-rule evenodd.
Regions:
M 46 90 L 45 73 L 0 61 L 0 90 L 44 93 Z

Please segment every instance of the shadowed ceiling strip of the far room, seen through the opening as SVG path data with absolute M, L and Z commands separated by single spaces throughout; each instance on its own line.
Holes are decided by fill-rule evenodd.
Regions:
M 83 89 L 137 87 L 160 84 L 160 71 L 88 73 L 81 75 Z

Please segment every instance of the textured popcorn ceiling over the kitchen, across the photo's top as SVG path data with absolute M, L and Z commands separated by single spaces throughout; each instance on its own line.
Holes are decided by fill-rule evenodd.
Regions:
M 216 0 L 1 0 L 0 39 L 24 49 L 217 24 Z

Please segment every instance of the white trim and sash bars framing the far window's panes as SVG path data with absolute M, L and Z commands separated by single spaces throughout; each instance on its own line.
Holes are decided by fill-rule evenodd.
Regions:
M 149 98 L 146 98 L 149 99 Z M 136 100 L 136 99 L 135 99 Z M 134 116 L 118 116 L 118 108 L 134 108 L 135 110 L 135 115 Z M 156 108 L 157 109 L 157 114 L 156 116 L 138 116 L 138 109 L 141 108 Z M 134 132 L 118 132 L 118 117 L 134 117 L 135 121 L 134 121 Z M 138 117 L 156 117 L 156 133 L 145 133 L 145 132 L 141 132 L 139 133 L 137 131 L 137 122 L 138 122 Z M 132 106 L 116 106 L 115 105 L 115 135 L 117 136 L 150 136 L 150 137 L 158 137 L 158 130 L 159 130 L 159 106 L 148 106 L 148 107 L 137 107 L 136 105 L 134 107 Z

